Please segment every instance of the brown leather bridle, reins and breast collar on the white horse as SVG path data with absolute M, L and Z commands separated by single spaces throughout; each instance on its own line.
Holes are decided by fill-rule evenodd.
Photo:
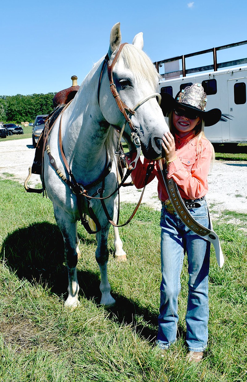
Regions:
M 47 144 L 47 146 L 46 146 L 47 154 L 48 154 L 48 157 L 49 157 L 49 160 L 50 160 L 50 163 L 51 163 L 52 167 L 55 169 L 55 171 L 58 173 L 58 175 L 61 177 L 61 179 L 63 181 L 65 181 L 65 183 L 68 184 L 68 186 L 72 189 L 73 193 L 77 197 L 77 203 L 78 203 L 78 209 L 79 209 L 81 223 L 82 223 L 82 225 L 84 225 L 84 228 L 86 228 L 88 233 L 97 233 L 98 231 L 101 230 L 100 223 L 98 222 L 98 219 L 95 216 L 95 214 L 94 214 L 94 212 L 92 210 L 92 207 L 90 207 L 90 199 L 98 199 L 98 200 L 101 201 L 103 210 L 105 212 L 105 215 L 107 216 L 107 219 L 111 223 L 111 225 L 114 225 L 115 227 L 123 227 L 124 225 L 128 224 L 131 221 L 131 219 L 134 217 L 134 215 L 136 214 L 136 211 L 137 211 L 137 209 L 140 206 L 140 202 L 142 201 L 142 196 L 144 194 L 145 186 L 147 185 L 147 181 L 148 181 L 149 175 L 150 175 L 150 173 L 153 170 L 153 165 L 149 165 L 149 167 L 147 168 L 147 173 L 146 173 L 146 178 L 145 178 L 145 185 L 144 185 L 142 194 L 140 196 L 140 199 L 139 199 L 139 202 L 137 203 L 136 208 L 134 209 L 133 213 L 131 214 L 131 217 L 124 224 L 122 224 L 122 225 L 118 225 L 118 219 L 117 219 L 117 224 L 114 223 L 113 220 L 111 220 L 111 217 L 110 217 L 110 215 L 109 215 L 109 213 L 107 211 L 107 208 L 105 206 L 104 200 L 108 199 L 111 196 L 113 196 L 117 191 L 119 191 L 119 188 L 121 186 L 124 186 L 124 182 L 126 181 L 128 176 L 131 174 L 132 170 L 134 170 L 134 168 L 136 167 L 136 163 L 137 163 L 137 160 L 140 157 L 140 151 L 141 151 L 140 139 L 139 139 L 139 136 L 137 135 L 138 129 L 133 125 L 131 119 L 129 118 L 129 115 L 134 115 L 135 110 L 140 105 L 142 105 L 144 102 L 146 102 L 147 100 L 149 100 L 152 97 L 158 97 L 159 104 L 160 104 L 160 101 L 161 101 L 160 94 L 153 93 L 153 94 L 148 95 L 144 99 L 142 99 L 140 102 L 138 102 L 138 104 L 134 108 L 131 109 L 120 98 L 120 96 L 118 94 L 118 91 L 116 89 L 116 85 L 115 85 L 115 83 L 113 81 L 113 67 L 115 66 L 115 64 L 116 64 L 116 62 L 117 62 L 117 60 L 119 58 L 121 50 L 123 49 L 124 45 L 126 45 L 126 44 L 127 43 L 124 43 L 124 44 L 121 44 L 119 46 L 119 49 L 116 52 L 116 55 L 115 55 L 111 65 L 109 64 L 108 53 L 105 56 L 105 59 L 104 59 L 103 64 L 102 64 L 102 69 L 101 69 L 101 72 L 100 72 L 100 77 L 99 77 L 99 81 L 98 81 L 98 91 L 97 91 L 98 104 L 99 104 L 100 85 L 101 85 L 102 75 L 103 75 L 104 68 L 107 65 L 107 73 L 108 73 L 111 93 L 113 94 L 113 97 L 115 98 L 116 104 L 118 105 L 118 108 L 119 108 L 120 112 L 124 115 L 124 118 L 125 118 L 125 122 L 124 122 L 123 127 L 121 128 L 121 130 L 119 128 L 117 128 L 117 126 L 113 126 L 118 131 L 118 133 L 119 133 L 118 148 L 117 148 L 115 154 L 119 155 L 119 159 L 120 159 L 121 152 L 119 151 L 119 145 L 120 145 L 121 137 L 122 137 L 124 128 L 126 126 L 126 123 L 128 123 L 129 126 L 130 126 L 130 129 L 131 129 L 131 140 L 132 140 L 133 144 L 136 146 L 136 150 L 137 150 L 137 156 L 129 164 L 129 167 L 126 170 L 126 173 L 125 173 L 121 183 L 120 184 L 117 183 L 116 189 L 110 195 L 108 195 L 106 197 L 103 197 L 104 186 L 105 186 L 105 177 L 110 173 L 111 167 L 112 167 L 111 162 L 108 163 L 108 157 L 106 157 L 105 168 L 104 168 L 102 174 L 100 175 L 100 177 L 97 178 L 97 180 L 95 180 L 94 182 L 90 183 L 87 186 L 84 186 L 82 184 L 77 183 L 77 181 L 74 178 L 74 175 L 73 175 L 73 173 L 72 173 L 72 171 L 71 171 L 71 169 L 69 167 L 69 164 L 68 164 L 68 161 L 66 159 L 65 153 L 63 151 L 63 144 L 62 144 L 62 138 L 61 138 L 61 121 L 62 121 L 62 117 L 63 117 L 63 112 L 68 107 L 70 102 L 68 104 L 66 104 L 66 106 L 63 108 L 63 110 L 61 112 L 58 135 L 59 135 L 59 146 L 60 146 L 61 157 L 63 159 L 63 162 L 65 164 L 66 170 L 67 170 L 71 180 L 66 178 L 66 176 L 63 175 L 63 173 L 61 173 L 61 171 L 58 169 L 57 164 L 55 162 L 55 159 L 52 157 L 52 155 L 50 153 L 49 145 Z M 118 167 L 118 166 L 116 166 L 116 167 Z M 91 188 L 92 186 L 97 185 L 101 181 L 102 181 L 102 187 L 98 188 L 98 190 L 92 196 L 88 195 L 87 194 L 87 189 Z M 90 214 L 91 219 L 94 221 L 94 223 L 96 225 L 96 231 L 93 231 L 90 228 L 89 222 L 88 222 L 87 217 L 86 217 L 86 214 L 82 214 L 82 208 L 81 208 L 82 200 L 81 200 L 81 196 L 84 196 L 87 199 L 89 214 Z M 119 208 L 118 208 L 118 218 L 119 218 Z

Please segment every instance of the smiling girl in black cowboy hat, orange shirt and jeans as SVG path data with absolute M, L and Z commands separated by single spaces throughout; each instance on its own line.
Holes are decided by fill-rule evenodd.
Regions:
M 176 100 L 171 95 L 162 94 L 161 108 L 169 115 L 170 132 L 162 140 L 164 165 L 167 178 L 178 185 L 190 214 L 199 223 L 209 228 L 207 202 L 207 176 L 214 150 L 205 137 L 204 126 L 211 126 L 221 118 L 219 109 L 205 112 L 207 98 L 201 84 L 193 84 L 182 90 Z M 130 163 L 136 154 L 128 155 Z M 137 162 L 132 171 L 132 180 L 137 188 L 142 188 L 149 161 Z M 208 270 L 210 243 L 191 231 L 176 214 L 168 198 L 161 175 L 160 163 L 155 161 L 149 182 L 157 176 L 158 197 L 161 209 L 161 273 L 160 315 L 158 316 L 157 345 L 168 349 L 176 342 L 178 325 L 178 295 L 181 289 L 180 275 L 187 253 L 189 291 L 187 300 L 186 342 L 187 360 L 198 362 L 208 340 Z

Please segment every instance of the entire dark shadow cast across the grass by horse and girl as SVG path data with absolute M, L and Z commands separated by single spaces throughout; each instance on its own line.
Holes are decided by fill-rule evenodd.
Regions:
M 94 239 L 85 239 L 91 244 Z M 47 286 L 52 293 L 66 298 L 68 272 L 64 261 L 63 237 L 57 225 L 37 223 L 20 228 L 8 235 L 3 242 L 1 259 L 19 278 L 25 278 L 32 284 Z M 77 270 L 80 294 L 99 304 L 100 278 L 90 270 Z M 157 335 L 157 312 L 140 306 L 123 295 L 112 291 L 116 305 L 109 311 L 109 318 L 119 325 L 130 324 L 145 340 L 154 342 Z M 180 337 L 185 333 L 179 328 Z

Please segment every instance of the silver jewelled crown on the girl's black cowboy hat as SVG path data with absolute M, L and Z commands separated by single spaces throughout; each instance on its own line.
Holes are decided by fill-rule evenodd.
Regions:
M 193 84 L 182 89 L 177 101 L 204 111 L 207 104 L 207 94 L 201 84 Z

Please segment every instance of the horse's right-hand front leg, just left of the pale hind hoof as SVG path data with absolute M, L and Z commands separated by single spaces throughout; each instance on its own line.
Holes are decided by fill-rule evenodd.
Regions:
M 111 287 L 108 281 L 107 275 L 107 262 L 109 258 L 109 251 L 107 248 L 107 237 L 108 231 L 101 230 L 96 234 L 97 236 L 97 249 L 95 251 L 96 261 L 100 268 L 100 291 L 102 293 L 102 297 L 100 300 L 100 304 L 104 305 L 105 308 L 110 308 L 115 305 L 115 299 L 111 296 Z

